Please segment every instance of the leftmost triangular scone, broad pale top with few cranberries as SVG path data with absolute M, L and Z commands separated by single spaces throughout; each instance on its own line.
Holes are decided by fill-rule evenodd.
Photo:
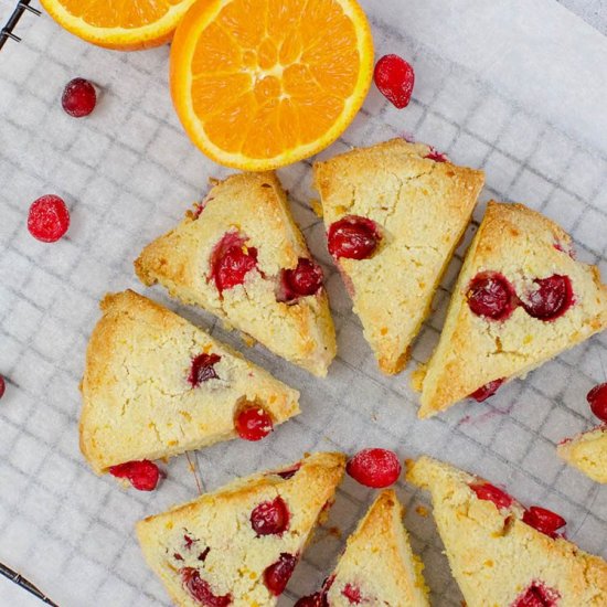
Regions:
M 254 404 L 280 424 L 299 393 L 203 330 L 127 290 L 107 295 L 86 352 L 81 449 L 102 473 L 234 438 Z

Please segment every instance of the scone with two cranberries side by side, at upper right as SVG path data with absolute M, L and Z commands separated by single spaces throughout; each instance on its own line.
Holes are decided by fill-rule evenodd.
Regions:
M 417 374 L 419 417 L 483 401 L 607 327 L 598 269 L 569 236 L 522 204 L 490 202 L 455 286 L 438 345 Z

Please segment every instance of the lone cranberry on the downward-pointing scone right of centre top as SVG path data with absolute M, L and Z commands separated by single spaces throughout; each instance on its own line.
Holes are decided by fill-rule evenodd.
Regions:
M 330 225 L 328 239 L 333 257 L 366 259 L 377 248 L 381 235 L 373 220 L 347 215 Z

